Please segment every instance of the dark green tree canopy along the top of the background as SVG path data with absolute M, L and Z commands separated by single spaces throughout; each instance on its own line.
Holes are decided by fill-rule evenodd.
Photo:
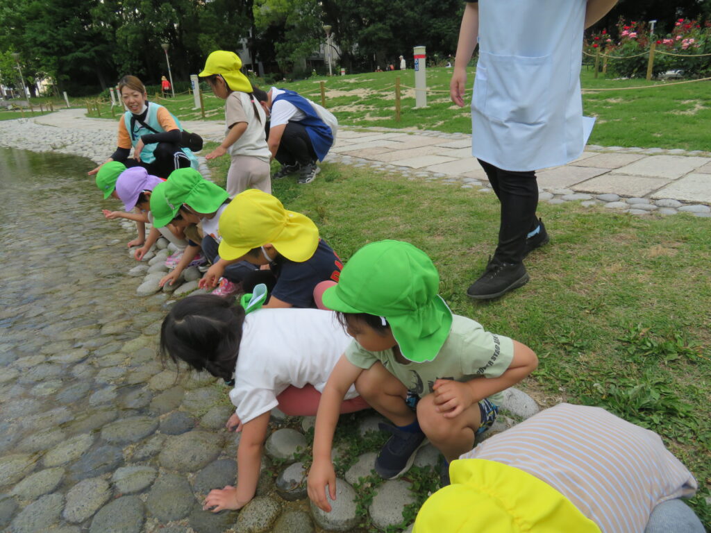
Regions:
M 30 86 L 49 77 L 82 95 L 127 73 L 156 83 L 168 73 L 161 43 L 177 84 L 213 50 L 245 47 L 267 74 L 298 76 L 324 68 L 308 63 L 325 46 L 324 24 L 341 66 L 374 70 L 416 45 L 429 58 L 454 54 L 463 9 L 461 0 L 0 0 L 0 79 L 19 85 L 18 53 Z M 620 16 L 668 31 L 678 17 L 711 16 L 711 0 L 620 0 L 597 26 L 613 28 Z

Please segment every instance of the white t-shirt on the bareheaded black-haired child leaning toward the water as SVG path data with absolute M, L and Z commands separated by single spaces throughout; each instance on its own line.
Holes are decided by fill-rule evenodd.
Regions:
M 333 311 L 260 309 L 245 317 L 232 404 L 242 424 L 277 407 L 289 385 L 323 392 L 331 370 L 351 343 Z M 346 399 L 355 398 L 355 387 Z

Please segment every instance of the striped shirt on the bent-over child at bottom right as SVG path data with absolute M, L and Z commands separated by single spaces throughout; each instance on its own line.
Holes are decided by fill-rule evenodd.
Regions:
M 534 475 L 604 533 L 643 532 L 656 505 L 697 489 L 656 433 L 599 407 L 546 409 L 460 458 L 498 461 Z

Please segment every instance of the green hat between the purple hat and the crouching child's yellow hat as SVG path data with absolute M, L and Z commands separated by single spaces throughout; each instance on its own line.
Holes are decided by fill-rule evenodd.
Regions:
M 156 185 L 151 194 L 153 225 L 169 224 L 183 204 L 196 212 L 209 214 L 217 211 L 227 199 L 225 189 L 207 181 L 194 168 L 178 168 L 168 181 Z

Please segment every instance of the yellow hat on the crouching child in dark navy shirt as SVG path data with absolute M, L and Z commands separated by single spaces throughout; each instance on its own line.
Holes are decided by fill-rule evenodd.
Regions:
M 282 256 L 301 263 L 319 246 L 319 228 L 309 217 L 287 211 L 278 198 L 257 189 L 232 199 L 220 215 L 220 235 L 220 257 L 228 261 L 269 243 Z

